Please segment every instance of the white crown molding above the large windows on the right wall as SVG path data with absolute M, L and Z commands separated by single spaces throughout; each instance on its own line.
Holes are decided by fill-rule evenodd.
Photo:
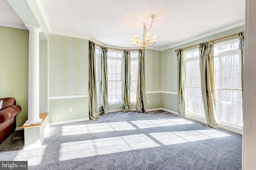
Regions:
M 188 39 L 188 40 L 185 40 L 185 41 L 182 41 L 182 42 L 179 42 L 179 43 L 172 44 L 172 45 L 170 45 L 170 46 L 168 46 L 168 47 L 162 48 L 161 51 L 164 51 L 164 50 L 166 50 L 166 49 L 170 49 L 170 48 L 173 48 L 173 47 L 177 47 L 177 46 L 182 45 L 182 44 L 185 44 L 185 43 L 193 42 L 193 41 L 199 40 L 199 39 L 201 39 L 201 38 L 206 38 L 206 37 L 208 37 L 208 36 L 212 36 L 212 35 L 218 34 L 218 33 L 220 33 L 220 32 L 228 31 L 228 30 L 231 30 L 231 29 L 233 29 L 233 28 L 237 28 L 237 27 L 239 27 L 239 26 L 244 26 L 244 22 L 245 22 L 245 21 L 243 20 L 243 21 L 237 22 L 237 23 L 235 23 L 235 24 L 231 24 L 231 25 L 229 25 L 229 26 L 220 28 L 220 29 L 218 29 L 218 30 L 214 30 L 214 31 L 208 32 L 208 33 L 206 33 L 206 34 L 202 34 L 202 35 L 200 35 L 200 36 L 196 36 L 196 37 L 190 38 L 190 39 Z

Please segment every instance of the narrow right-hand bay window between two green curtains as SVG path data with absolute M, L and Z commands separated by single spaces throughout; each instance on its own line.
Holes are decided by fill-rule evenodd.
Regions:
M 138 52 L 131 52 L 131 96 L 130 102 L 136 102 L 137 94 L 137 82 L 138 82 Z

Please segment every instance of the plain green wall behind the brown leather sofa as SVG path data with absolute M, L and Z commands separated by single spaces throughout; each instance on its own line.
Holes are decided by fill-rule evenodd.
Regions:
M 0 98 L 16 99 L 20 127 L 28 119 L 28 30 L 0 26 L 0 61 Z

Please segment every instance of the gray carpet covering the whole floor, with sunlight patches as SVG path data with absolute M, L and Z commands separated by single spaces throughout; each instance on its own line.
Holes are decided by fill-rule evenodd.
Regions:
M 50 127 L 43 146 L 22 150 L 23 130 L 0 144 L 0 160 L 29 170 L 239 170 L 242 136 L 166 111 L 114 112 Z

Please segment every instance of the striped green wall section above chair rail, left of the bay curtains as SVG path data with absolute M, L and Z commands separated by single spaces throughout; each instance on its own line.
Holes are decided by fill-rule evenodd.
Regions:
M 50 34 L 50 96 L 88 95 L 88 40 Z

